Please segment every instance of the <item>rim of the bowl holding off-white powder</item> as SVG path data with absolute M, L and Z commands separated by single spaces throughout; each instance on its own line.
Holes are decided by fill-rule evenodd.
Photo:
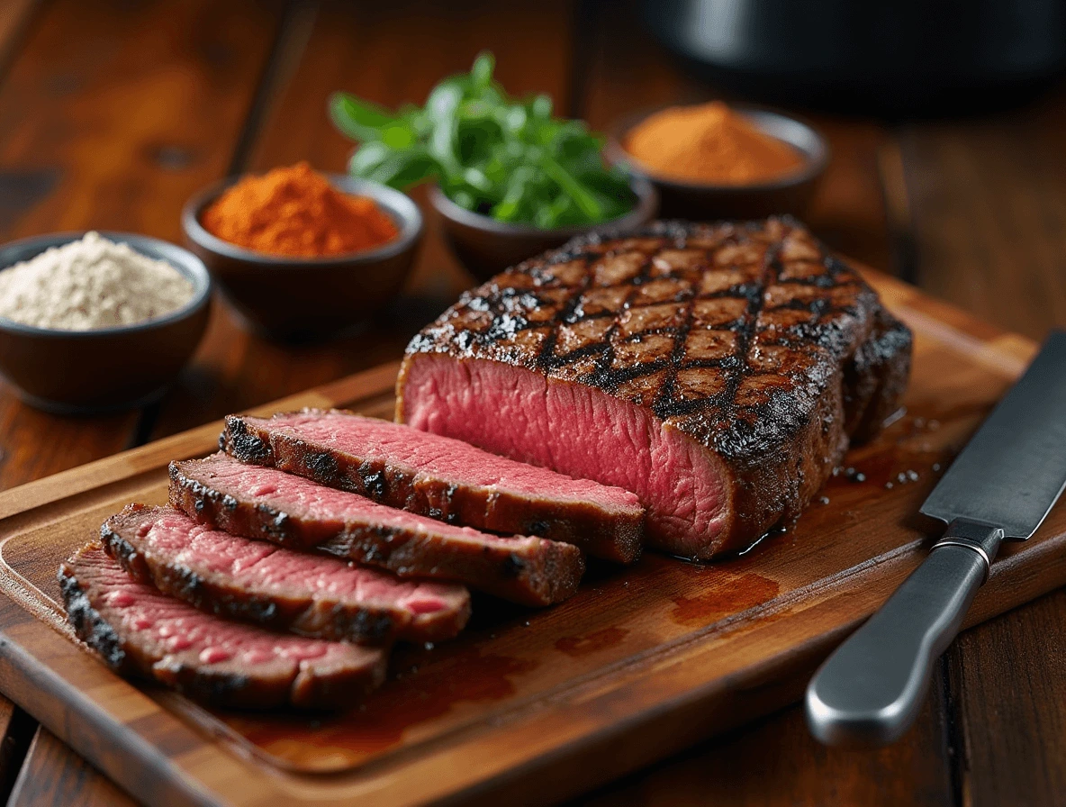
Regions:
M 117 335 L 144 333 L 146 330 L 174 324 L 175 322 L 195 316 L 200 309 L 210 303 L 211 294 L 214 290 L 214 281 L 211 279 L 211 273 L 208 272 L 207 265 L 204 261 L 200 260 L 194 253 L 185 249 L 183 246 L 179 246 L 178 244 L 161 238 L 156 238 L 155 236 L 146 236 L 141 232 L 104 229 L 62 230 L 59 232 L 48 232 L 41 236 L 30 236 L 15 241 L 9 241 L 7 243 L 0 245 L 0 255 L 20 247 L 30 247 L 31 245 L 35 248 L 39 246 L 39 248 L 27 258 L 20 258 L 14 263 L 7 263 L 0 267 L 0 272 L 7 271 L 12 267 L 16 265 L 16 263 L 32 260 L 37 255 L 41 255 L 46 249 L 53 246 L 64 246 L 65 244 L 79 241 L 90 232 L 98 232 L 102 238 L 106 238 L 109 241 L 127 244 L 131 249 L 134 249 L 141 255 L 169 263 L 174 267 L 175 271 L 181 273 L 183 277 L 192 283 L 192 297 L 190 297 L 187 303 L 182 304 L 178 308 L 175 308 L 173 311 L 164 313 L 162 317 L 154 317 L 150 320 L 135 322 L 130 325 L 112 325 L 106 328 L 71 330 L 68 328 L 50 328 L 42 327 L 39 325 L 28 325 L 25 322 L 18 322 L 0 316 L 0 330 L 13 334 L 22 334 L 25 336 L 52 339 L 104 339 Z M 144 249 L 140 248 L 139 243 L 150 245 L 159 254 L 148 255 L 144 252 Z

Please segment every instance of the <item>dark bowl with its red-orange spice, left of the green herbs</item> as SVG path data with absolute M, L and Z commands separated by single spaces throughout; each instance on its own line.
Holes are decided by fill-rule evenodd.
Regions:
M 405 194 L 306 162 L 206 188 L 181 225 L 233 308 L 285 340 L 368 323 L 399 294 L 422 235 Z

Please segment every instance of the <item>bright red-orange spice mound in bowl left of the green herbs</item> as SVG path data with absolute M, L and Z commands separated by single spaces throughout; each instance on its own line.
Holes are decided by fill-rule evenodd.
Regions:
M 247 249 L 305 258 L 364 252 L 399 235 L 373 199 L 341 193 L 306 162 L 241 179 L 204 211 L 200 224 Z

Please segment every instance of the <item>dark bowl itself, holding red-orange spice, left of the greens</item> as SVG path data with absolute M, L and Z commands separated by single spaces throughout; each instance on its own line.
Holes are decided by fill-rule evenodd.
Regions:
M 189 248 L 207 263 L 226 298 L 251 325 L 282 340 L 319 339 L 365 325 L 400 293 L 422 236 L 418 206 L 400 191 L 341 174 L 326 175 L 344 193 L 369 196 L 400 235 L 374 249 L 329 258 L 286 258 L 245 249 L 212 236 L 199 216 L 240 178 L 193 196 L 181 211 Z

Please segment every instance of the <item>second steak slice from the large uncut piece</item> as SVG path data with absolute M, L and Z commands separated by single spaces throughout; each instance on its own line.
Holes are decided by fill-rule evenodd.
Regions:
M 571 544 L 454 527 L 227 454 L 171 463 L 171 503 L 230 533 L 456 580 L 527 606 L 566 599 L 584 571 Z

